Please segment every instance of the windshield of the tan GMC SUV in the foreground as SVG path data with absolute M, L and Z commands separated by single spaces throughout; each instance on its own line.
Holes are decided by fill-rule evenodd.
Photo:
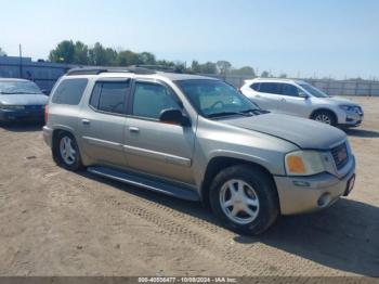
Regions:
M 205 117 L 260 113 L 260 108 L 234 87 L 219 80 L 175 81 L 196 111 Z

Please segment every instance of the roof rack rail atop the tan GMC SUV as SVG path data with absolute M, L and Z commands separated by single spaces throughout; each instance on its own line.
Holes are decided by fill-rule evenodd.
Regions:
M 143 68 L 139 66 L 128 66 L 128 67 L 79 67 L 69 69 L 66 75 L 99 75 L 102 73 L 134 73 L 141 75 L 156 74 L 155 70 Z

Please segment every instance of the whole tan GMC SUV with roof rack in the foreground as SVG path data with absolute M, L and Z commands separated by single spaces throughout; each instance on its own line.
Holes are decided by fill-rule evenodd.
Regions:
M 57 165 L 201 201 L 239 233 L 326 208 L 354 186 L 344 132 L 262 111 L 213 78 L 71 69 L 45 109 L 43 137 Z

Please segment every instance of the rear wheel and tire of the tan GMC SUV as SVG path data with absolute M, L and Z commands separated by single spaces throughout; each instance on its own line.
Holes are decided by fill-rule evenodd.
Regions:
M 78 144 L 71 133 L 61 131 L 53 144 L 53 158 L 65 169 L 78 171 L 83 168 Z

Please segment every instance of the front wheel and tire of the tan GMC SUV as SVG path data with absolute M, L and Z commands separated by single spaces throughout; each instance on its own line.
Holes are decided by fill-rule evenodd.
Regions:
M 237 189 L 235 197 L 232 197 L 232 188 Z M 253 166 L 232 166 L 219 172 L 212 181 L 209 199 L 214 215 L 226 228 L 240 234 L 261 234 L 279 215 L 279 202 L 272 177 Z M 226 206 L 227 202 L 234 205 Z M 246 209 L 246 205 L 250 210 Z M 235 217 L 234 208 L 237 211 Z

